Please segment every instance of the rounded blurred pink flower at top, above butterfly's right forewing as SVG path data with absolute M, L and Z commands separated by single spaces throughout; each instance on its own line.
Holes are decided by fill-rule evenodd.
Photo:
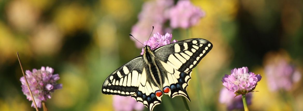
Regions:
M 205 12 L 195 7 L 189 0 L 179 0 L 177 5 L 168 12 L 170 26 L 172 28 L 188 28 L 198 23 Z

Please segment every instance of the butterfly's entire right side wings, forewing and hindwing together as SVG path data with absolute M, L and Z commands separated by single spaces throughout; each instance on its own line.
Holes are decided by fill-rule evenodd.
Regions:
M 189 97 L 186 91 L 191 70 L 212 49 L 208 40 L 196 38 L 171 43 L 154 50 L 157 64 L 161 64 L 164 77 L 163 92 L 170 97 Z

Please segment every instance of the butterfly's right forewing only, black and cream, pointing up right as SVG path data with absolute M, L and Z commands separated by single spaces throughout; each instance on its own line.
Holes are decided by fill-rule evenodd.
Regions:
M 154 50 L 156 58 L 180 72 L 188 72 L 197 66 L 201 59 L 212 49 L 212 44 L 205 39 L 188 39 Z

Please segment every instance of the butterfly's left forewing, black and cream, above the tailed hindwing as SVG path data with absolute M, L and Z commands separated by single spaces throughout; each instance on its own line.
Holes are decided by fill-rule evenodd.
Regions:
M 139 88 L 144 68 L 142 56 L 118 68 L 103 83 L 102 93 L 120 96 L 134 95 Z

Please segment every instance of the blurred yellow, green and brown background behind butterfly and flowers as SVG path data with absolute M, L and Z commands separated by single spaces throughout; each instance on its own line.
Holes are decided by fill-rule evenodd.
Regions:
M 128 34 L 145 2 L 1 0 L 0 110 L 35 110 L 20 87 L 17 52 L 25 70 L 50 66 L 60 75 L 63 88 L 46 102 L 50 111 L 114 110 L 112 95 L 101 93 L 102 84 L 140 54 Z M 204 38 L 214 45 L 193 71 L 188 87 L 191 110 L 227 110 L 227 104 L 219 102 L 221 79 L 243 66 L 263 77 L 255 89 L 259 92 L 252 94 L 251 110 L 303 110 L 302 0 L 191 2 L 206 15 L 193 27 L 173 29 L 173 39 Z M 273 75 L 265 68 L 275 58 L 285 59 L 299 75 L 287 90 L 270 90 L 268 78 Z M 185 110 L 181 97 L 164 95 L 155 107 L 171 109 Z

